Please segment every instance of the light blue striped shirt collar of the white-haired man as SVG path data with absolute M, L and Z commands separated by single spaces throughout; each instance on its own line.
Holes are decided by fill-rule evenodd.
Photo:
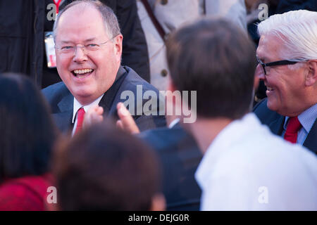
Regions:
M 298 120 L 304 127 L 305 131 L 309 133 L 311 127 L 315 123 L 317 117 L 317 104 L 311 106 L 311 108 L 306 109 L 303 113 L 299 114 Z M 287 128 L 287 122 L 290 117 L 285 117 L 284 129 Z

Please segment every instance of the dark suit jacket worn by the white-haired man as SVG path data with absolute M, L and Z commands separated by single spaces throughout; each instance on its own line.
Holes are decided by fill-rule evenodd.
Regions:
M 267 98 L 254 106 L 254 113 L 263 124 L 268 125 L 273 134 L 282 135 L 285 117 L 268 109 Z M 311 131 L 306 137 L 303 146 L 317 154 L 317 120 L 315 120 Z

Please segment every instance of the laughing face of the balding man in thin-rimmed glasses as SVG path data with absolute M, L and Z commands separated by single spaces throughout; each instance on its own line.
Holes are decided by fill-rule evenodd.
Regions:
M 58 21 L 56 65 L 73 96 L 87 105 L 104 94 L 116 79 L 123 37 L 108 37 L 100 13 L 82 5 L 69 8 Z M 104 42 L 106 44 L 101 44 Z M 99 47 L 94 48 L 97 45 Z M 72 46 L 77 49 L 65 50 Z

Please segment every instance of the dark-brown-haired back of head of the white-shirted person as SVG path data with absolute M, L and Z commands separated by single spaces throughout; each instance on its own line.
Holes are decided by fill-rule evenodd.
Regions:
M 166 47 L 175 88 L 197 91 L 198 117 L 237 119 L 247 113 L 256 54 L 240 28 L 223 19 L 199 20 L 171 34 Z

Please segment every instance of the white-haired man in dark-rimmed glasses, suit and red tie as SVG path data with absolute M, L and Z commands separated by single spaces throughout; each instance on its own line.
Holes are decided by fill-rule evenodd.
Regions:
M 274 134 L 317 153 L 317 12 L 272 15 L 258 30 L 256 73 L 268 98 L 254 113 Z

